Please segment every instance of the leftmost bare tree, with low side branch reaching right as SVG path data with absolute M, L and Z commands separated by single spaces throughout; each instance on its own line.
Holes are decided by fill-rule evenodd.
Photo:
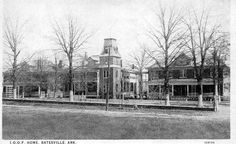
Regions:
M 16 95 L 16 87 L 17 87 L 17 81 L 20 75 L 20 71 L 22 70 L 22 67 L 24 65 L 24 62 L 28 62 L 32 56 L 25 57 L 24 59 L 19 59 L 19 56 L 22 52 L 21 44 L 24 39 L 24 33 L 23 28 L 25 26 L 26 22 L 23 24 L 20 24 L 19 20 L 16 20 L 14 23 L 10 18 L 4 18 L 4 24 L 3 24 L 3 41 L 4 46 L 6 49 L 4 49 L 4 52 L 7 56 L 6 58 L 6 65 L 10 67 L 10 73 L 11 73 L 11 81 L 13 84 L 13 98 L 17 98 Z

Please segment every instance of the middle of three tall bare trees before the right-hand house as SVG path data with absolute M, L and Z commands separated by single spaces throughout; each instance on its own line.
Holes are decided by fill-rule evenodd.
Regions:
M 188 30 L 188 38 L 186 39 L 186 47 L 191 53 L 194 65 L 194 72 L 197 79 L 198 106 L 202 107 L 203 96 L 203 71 L 205 68 L 206 57 L 209 49 L 213 46 L 217 39 L 214 35 L 219 26 L 209 24 L 209 13 L 203 10 L 200 16 L 193 10 L 193 14 L 189 12 L 189 19 L 185 19 L 184 23 Z

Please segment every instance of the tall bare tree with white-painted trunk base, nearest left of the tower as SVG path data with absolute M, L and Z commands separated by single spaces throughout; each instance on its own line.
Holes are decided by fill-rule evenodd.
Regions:
M 70 101 L 73 101 L 73 60 L 92 35 L 87 34 L 85 28 L 76 23 L 75 19 L 68 18 L 66 22 L 66 26 L 55 22 L 53 34 L 59 50 L 66 54 L 69 62 L 69 95 Z

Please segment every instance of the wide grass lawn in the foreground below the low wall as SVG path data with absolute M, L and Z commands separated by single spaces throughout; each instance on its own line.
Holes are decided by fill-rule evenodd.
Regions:
M 3 106 L 3 139 L 229 139 L 229 118 L 193 111 L 105 112 L 48 106 Z M 196 112 L 198 114 L 199 112 Z M 224 112 L 225 113 L 225 112 Z M 177 116 L 175 116 L 177 114 Z M 229 117 L 229 116 L 228 116 Z

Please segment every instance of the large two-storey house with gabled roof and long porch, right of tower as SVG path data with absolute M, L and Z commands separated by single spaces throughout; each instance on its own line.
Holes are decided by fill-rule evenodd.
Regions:
M 170 98 L 196 98 L 197 80 L 195 77 L 192 59 L 183 53 L 174 61 L 169 70 Z M 148 76 L 149 97 L 153 99 L 164 98 L 164 76 L 162 69 L 158 65 L 154 64 L 148 68 Z M 227 93 L 227 89 L 225 88 L 225 85 L 227 85 L 225 84 L 227 77 L 223 77 L 223 68 L 220 69 L 219 78 L 219 95 L 222 96 Z M 215 87 L 213 85 L 212 68 L 211 66 L 207 65 L 205 66 L 203 72 L 203 98 L 207 99 L 212 97 L 214 89 Z

